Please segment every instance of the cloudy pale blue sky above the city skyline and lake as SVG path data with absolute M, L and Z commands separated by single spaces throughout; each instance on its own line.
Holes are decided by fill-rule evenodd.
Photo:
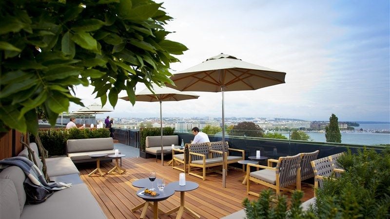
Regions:
M 156 2 L 162 2 L 156 0 Z M 171 73 L 220 53 L 286 72 L 285 84 L 225 92 L 225 117 L 390 121 L 389 0 L 165 0 L 168 39 L 189 50 Z M 145 88 L 137 85 L 137 91 Z M 100 103 L 76 87 L 85 106 Z M 163 117 L 222 116 L 220 92 L 163 102 Z M 119 96 L 125 96 L 120 93 Z M 106 105 L 105 107 L 113 109 Z M 71 104 L 69 111 L 81 107 Z M 119 99 L 97 117 L 159 117 L 159 103 Z

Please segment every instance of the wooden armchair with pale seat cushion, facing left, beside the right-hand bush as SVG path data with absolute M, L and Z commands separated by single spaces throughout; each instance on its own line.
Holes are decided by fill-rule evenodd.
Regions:
M 273 160 L 273 159 L 270 159 Z M 279 157 L 276 167 L 264 166 L 258 164 L 247 164 L 247 193 L 259 197 L 258 193 L 250 191 L 251 181 L 260 183 L 276 190 L 276 195 L 280 194 L 280 190 L 292 191 L 286 188 L 289 185 L 296 184 L 296 189 L 300 189 L 300 163 L 301 155 L 297 154 L 291 157 Z M 272 162 L 269 164 L 272 164 Z M 251 166 L 263 168 L 251 172 Z

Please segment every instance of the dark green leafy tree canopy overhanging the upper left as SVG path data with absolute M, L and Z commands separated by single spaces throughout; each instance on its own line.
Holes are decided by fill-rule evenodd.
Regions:
M 0 132 L 37 134 L 36 108 L 54 125 L 75 85 L 92 85 L 102 106 L 125 90 L 173 83 L 168 70 L 187 48 L 166 39 L 171 19 L 152 0 L 0 1 Z

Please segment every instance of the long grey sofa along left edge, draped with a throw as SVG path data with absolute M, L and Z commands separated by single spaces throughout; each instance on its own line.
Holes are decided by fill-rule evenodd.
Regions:
M 35 151 L 35 160 L 41 169 L 38 147 L 35 143 L 30 143 L 30 147 Z M 28 158 L 27 148 L 24 148 L 18 156 Z M 72 183 L 72 186 L 54 192 L 43 203 L 25 205 L 24 172 L 18 166 L 2 169 L 0 172 L 1 219 L 106 219 L 69 157 L 47 158 L 46 166 L 51 181 Z

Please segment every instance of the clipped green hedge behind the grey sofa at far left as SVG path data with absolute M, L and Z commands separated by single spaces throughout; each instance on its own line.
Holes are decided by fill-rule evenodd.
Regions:
M 85 139 L 85 138 L 108 138 L 110 130 L 106 128 L 97 129 L 47 129 L 39 130 L 39 138 L 43 147 L 49 151 L 49 156 L 64 155 L 66 141 L 68 139 Z M 33 135 L 30 135 L 30 142 L 35 142 Z

